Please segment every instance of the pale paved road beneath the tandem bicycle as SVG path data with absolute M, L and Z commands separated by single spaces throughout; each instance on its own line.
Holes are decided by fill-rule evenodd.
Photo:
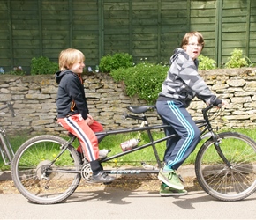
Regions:
M 1 219 L 255 219 L 256 194 L 240 202 L 220 202 L 202 191 L 161 197 L 157 191 L 105 187 L 74 193 L 55 205 L 27 202 L 21 194 L 0 194 Z

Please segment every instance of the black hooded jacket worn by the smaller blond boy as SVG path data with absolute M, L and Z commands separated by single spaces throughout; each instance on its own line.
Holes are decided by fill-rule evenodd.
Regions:
M 71 70 L 57 71 L 56 83 L 58 84 L 57 118 L 81 114 L 84 119 L 87 119 L 89 110 L 82 78 Z

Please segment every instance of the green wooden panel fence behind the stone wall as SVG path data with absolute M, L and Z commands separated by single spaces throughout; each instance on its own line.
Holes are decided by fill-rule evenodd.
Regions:
M 1 0 L 0 66 L 29 72 L 33 57 L 57 62 L 64 48 L 79 48 L 93 68 L 117 52 L 169 62 L 191 30 L 219 67 L 234 48 L 256 62 L 255 0 Z

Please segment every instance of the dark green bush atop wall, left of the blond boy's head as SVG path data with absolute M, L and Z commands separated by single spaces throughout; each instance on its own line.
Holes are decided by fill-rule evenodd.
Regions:
M 49 61 L 48 57 L 40 56 L 31 60 L 31 75 L 54 74 L 58 70 L 58 63 Z

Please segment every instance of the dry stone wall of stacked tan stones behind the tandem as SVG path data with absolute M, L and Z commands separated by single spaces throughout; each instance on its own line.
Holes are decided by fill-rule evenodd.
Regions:
M 253 128 L 256 121 L 256 68 L 200 71 L 208 86 L 218 96 L 227 99 L 229 106 L 215 121 L 219 128 Z M 126 106 L 147 105 L 137 97 L 128 97 L 124 84 L 115 83 L 108 74 L 84 76 L 85 92 L 90 114 L 105 129 L 131 128 L 138 121 L 124 120 Z M 54 76 L 0 75 L 0 107 L 4 101 L 14 103 L 15 118 L 7 110 L 1 114 L 1 127 L 13 134 L 60 134 L 64 129 L 56 123 L 57 84 Z M 189 107 L 192 117 L 201 119 L 206 105 L 195 99 Z M 150 112 L 150 124 L 162 123 L 156 112 Z

